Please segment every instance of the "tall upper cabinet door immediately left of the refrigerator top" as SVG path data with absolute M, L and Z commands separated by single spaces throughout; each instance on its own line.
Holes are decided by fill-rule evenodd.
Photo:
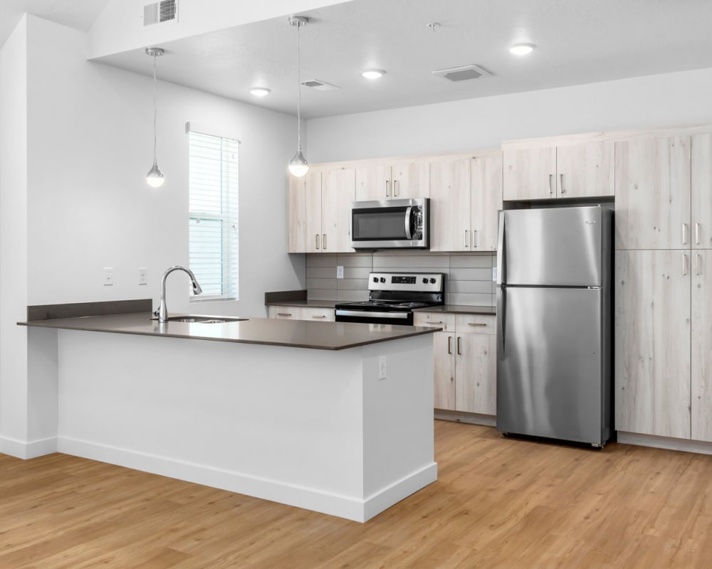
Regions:
M 497 212 L 502 209 L 502 153 L 470 162 L 470 243 L 472 251 L 497 249 Z

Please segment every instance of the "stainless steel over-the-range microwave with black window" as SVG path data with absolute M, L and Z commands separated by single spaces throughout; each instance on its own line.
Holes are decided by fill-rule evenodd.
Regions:
M 429 198 L 352 201 L 351 246 L 354 249 L 428 249 Z

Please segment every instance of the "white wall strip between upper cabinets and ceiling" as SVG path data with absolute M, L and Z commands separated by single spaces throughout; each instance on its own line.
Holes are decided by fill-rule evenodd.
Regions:
M 504 140 L 712 122 L 712 68 L 311 119 L 312 162 L 497 148 Z

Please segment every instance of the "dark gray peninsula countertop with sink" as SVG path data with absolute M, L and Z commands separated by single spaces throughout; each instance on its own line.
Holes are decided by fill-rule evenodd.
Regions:
M 172 314 L 171 316 L 178 316 Z M 58 318 L 18 322 L 66 330 L 166 336 L 197 340 L 265 344 L 318 350 L 343 350 L 389 340 L 432 334 L 441 328 L 394 326 L 392 324 L 357 324 L 352 322 L 315 322 L 251 318 L 224 324 L 167 322 L 159 324 L 150 312 L 108 314 L 79 318 Z M 215 317 L 220 318 L 220 317 Z

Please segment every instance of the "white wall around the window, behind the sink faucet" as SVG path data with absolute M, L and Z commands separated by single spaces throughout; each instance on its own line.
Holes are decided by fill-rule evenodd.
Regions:
M 152 78 L 88 63 L 83 33 L 32 16 L 28 61 L 29 304 L 157 300 L 162 272 L 189 264 L 187 121 L 242 142 L 240 299 L 199 310 L 264 316 L 266 290 L 302 286 L 303 258 L 295 267 L 288 260 L 284 224 L 294 117 L 159 83 L 158 159 L 167 181 L 152 189 Z M 113 268 L 111 287 L 103 267 Z M 138 285 L 139 267 L 148 268 L 147 286 Z M 196 310 L 187 289 L 186 275 L 169 277 L 170 311 Z

